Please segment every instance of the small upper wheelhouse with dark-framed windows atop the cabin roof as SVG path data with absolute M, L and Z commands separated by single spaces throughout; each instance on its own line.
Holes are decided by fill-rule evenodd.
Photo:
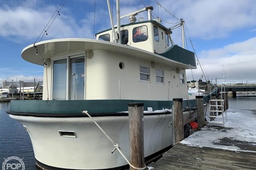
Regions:
M 148 13 L 150 12 L 148 11 Z M 135 22 L 135 14 L 132 13 L 129 16 L 129 18 L 133 18 L 133 20 L 130 20 L 131 23 L 120 26 L 120 36 L 118 35 L 117 27 L 115 27 L 117 41 L 120 44 L 140 48 L 149 52 L 162 53 L 167 51 L 170 48 L 171 30 L 162 26 L 160 18 L 152 20 L 152 17 L 149 17 L 146 21 L 144 21 L 144 18 L 140 18 Z M 96 37 L 98 40 L 116 42 L 112 29 L 97 33 Z

